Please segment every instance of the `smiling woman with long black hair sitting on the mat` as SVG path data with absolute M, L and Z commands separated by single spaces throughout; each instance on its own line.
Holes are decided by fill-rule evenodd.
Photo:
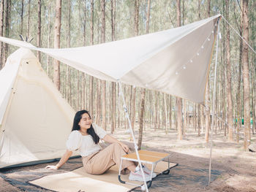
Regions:
M 111 143 L 104 150 L 99 146 L 99 139 Z M 121 164 L 121 156 L 129 152 L 129 147 L 111 137 L 106 131 L 92 123 L 88 111 L 81 110 L 75 114 L 72 132 L 67 140 L 67 151 L 56 166 L 46 166 L 47 169 L 59 169 L 75 150 L 80 150 L 83 166 L 89 174 L 103 174 L 111 166 Z M 121 169 L 129 169 L 129 180 L 143 181 L 140 168 L 133 161 L 123 160 Z M 150 170 L 143 166 L 146 181 L 150 180 Z M 154 173 L 153 177 L 156 174 Z

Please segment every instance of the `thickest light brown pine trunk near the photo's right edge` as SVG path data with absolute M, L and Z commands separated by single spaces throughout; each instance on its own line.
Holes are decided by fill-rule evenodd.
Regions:
M 243 0 L 243 38 L 246 42 L 249 42 L 248 0 Z M 248 46 L 244 41 L 242 52 L 242 64 L 244 69 L 244 150 L 248 150 L 248 147 L 251 142 L 249 106 L 249 55 Z

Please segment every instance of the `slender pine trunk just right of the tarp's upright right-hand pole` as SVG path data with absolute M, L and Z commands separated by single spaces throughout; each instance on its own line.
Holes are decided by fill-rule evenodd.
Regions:
M 229 0 L 226 0 L 226 18 L 229 20 Z M 228 140 L 233 140 L 233 110 L 232 110 L 232 90 L 231 90 L 231 66 L 230 66 L 230 28 L 227 25 L 227 125 Z

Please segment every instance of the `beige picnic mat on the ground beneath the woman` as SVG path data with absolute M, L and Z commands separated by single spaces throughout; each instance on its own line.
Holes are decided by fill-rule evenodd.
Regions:
M 168 163 L 160 161 L 155 172 L 159 173 L 167 169 Z M 170 163 L 170 168 L 177 164 Z M 151 165 L 146 165 L 151 168 Z M 129 174 L 121 174 L 121 179 L 128 181 Z M 29 181 L 32 185 L 37 185 L 41 188 L 45 188 L 52 191 L 130 191 L 135 188 L 134 185 L 122 184 L 118 181 L 118 167 L 112 166 L 107 172 L 100 175 L 87 174 L 82 167 L 73 170 L 72 172 L 66 172 L 61 174 L 48 175 L 37 180 Z M 138 185 L 142 185 L 141 182 L 132 182 Z M 154 182 L 153 182 L 154 184 Z

